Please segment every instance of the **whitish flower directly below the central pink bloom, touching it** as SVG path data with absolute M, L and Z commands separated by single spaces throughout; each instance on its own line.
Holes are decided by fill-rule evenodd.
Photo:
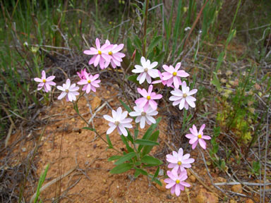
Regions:
M 144 111 L 143 108 L 140 108 L 138 104 L 133 106 L 133 109 L 135 111 L 130 112 L 129 115 L 133 117 L 136 116 L 135 123 L 140 123 L 140 128 L 145 128 L 145 123 L 147 123 L 147 125 L 156 123 L 155 118 L 152 118 L 152 116 L 156 116 L 158 111 L 153 110 L 150 106 L 147 111 Z

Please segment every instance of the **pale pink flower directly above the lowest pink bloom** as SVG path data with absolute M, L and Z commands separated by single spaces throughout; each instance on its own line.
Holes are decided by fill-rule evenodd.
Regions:
M 169 168 L 173 168 L 173 170 L 181 172 L 185 171 L 185 168 L 191 168 L 191 164 L 195 161 L 190 157 L 190 154 L 183 155 L 183 149 L 179 149 L 179 152 L 172 152 L 173 155 L 167 154 L 167 161 L 169 161 Z

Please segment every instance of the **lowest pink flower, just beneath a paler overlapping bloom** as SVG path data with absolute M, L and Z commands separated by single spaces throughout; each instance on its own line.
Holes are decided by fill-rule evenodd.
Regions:
M 190 187 L 189 183 L 183 181 L 188 178 L 186 170 L 182 171 L 179 175 L 175 170 L 167 171 L 167 176 L 169 176 L 169 178 L 166 178 L 164 182 L 167 183 L 167 189 L 171 188 L 172 195 L 175 193 L 179 196 L 181 190 L 184 190 L 184 187 Z

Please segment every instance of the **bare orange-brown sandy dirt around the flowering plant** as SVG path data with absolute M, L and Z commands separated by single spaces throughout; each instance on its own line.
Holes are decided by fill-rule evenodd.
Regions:
M 111 115 L 111 108 L 116 109 L 121 105 L 116 89 L 114 86 L 107 87 L 107 89 L 102 87 L 97 89 L 96 94 L 82 97 L 78 102 L 78 109 L 87 121 L 94 116 L 90 123 L 93 122 L 96 130 L 103 137 L 105 137 L 108 123 L 102 118 L 102 115 Z M 145 176 L 139 176 L 134 180 L 133 170 L 119 175 L 109 173 L 109 170 L 114 167 L 114 163 L 107 161 L 107 159 L 112 155 L 116 155 L 116 152 L 112 149 L 107 150 L 107 146 L 95 133 L 82 129 L 85 127 L 85 123 L 73 110 L 71 102 L 66 102 L 64 99 L 54 101 L 52 106 L 47 107 L 45 113 L 40 114 L 40 119 L 49 120 L 47 126 L 41 126 L 40 128 L 45 128 L 45 131 L 36 156 L 38 163 L 37 177 L 49 164 L 47 178 L 44 182 L 44 185 L 49 184 L 49 186 L 41 192 L 43 202 L 53 202 L 55 197 L 58 196 L 57 194 L 60 194 L 58 196 L 60 202 L 234 203 L 235 201 L 249 203 L 248 201 L 251 200 L 241 196 L 250 195 L 249 191 L 244 192 L 242 187 L 235 190 L 231 186 L 219 186 L 223 190 L 234 190 L 241 194 L 234 194 L 234 197 L 227 197 L 223 192 L 217 190 L 212 185 L 210 176 L 212 176 L 214 183 L 227 182 L 227 177 L 224 178 L 224 173 L 212 168 L 210 160 L 206 158 L 209 165 L 207 171 L 198 149 L 191 151 L 191 147 L 188 146 L 185 151 L 191 153 L 191 157 L 196 160 L 191 168 L 192 170 L 188 171 L 189 178 L 187 182 L 191 184 L 191 187 L 187 188 L 186 191 L 182 191 L 181 195 L 176 197 L 170 194 L 164 183 L 160 187 L 157 184 L 150 183 Z M 159 130 L 158 142 L 160 145 L 154 148 L 152 154 L 158 154 L 161 157 L 164 147 L 167 147 L 170 152 L 174 145 L 171 144 L 170 137 L 167 135 L 167 122 L 165 119 L 164 121 L 162 119 Z M 143 132 L 140 132 L 141 135 Z M 123 149 L 124 144 L 116 131 L 110 137 L 117 149 Z M 165 159 L 163 161 L 164 165 L 161 168 L 166 172 L 167 163 Z M 156 168 L 150 168 L 152 173 L 155 170 Z M 56 183 L 57 177 L 61 178 Z M 159 178 L 163 180 L 165 177 L 159 176 Z M 32 190 L 34 193 L 35 188 L 33 187 Z M 29 192 L 25 194 L 28 201 L 30 201 L 32 195 Z M 258 199 L 258 197 L 254 197 L 254 199 Z

